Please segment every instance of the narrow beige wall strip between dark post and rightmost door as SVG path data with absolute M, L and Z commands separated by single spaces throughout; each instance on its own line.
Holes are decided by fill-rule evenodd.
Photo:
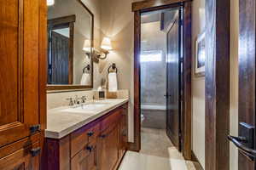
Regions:
M 232 0 L 230 10 L 230 134 L 238 135 L 238 35 L 239 0 Z M 230 169 L 238 169 L 238 151 L 230 143 Z

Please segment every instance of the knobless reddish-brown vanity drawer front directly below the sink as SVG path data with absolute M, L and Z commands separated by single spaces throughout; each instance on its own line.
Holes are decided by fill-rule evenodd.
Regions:
M 114 111 L 111 111 L 111 113 L 102 120 L 102 131 L 106 130 L 114 122 L 119 121 L 121 116 L 122 116 L 122 109 L 116 109 Z

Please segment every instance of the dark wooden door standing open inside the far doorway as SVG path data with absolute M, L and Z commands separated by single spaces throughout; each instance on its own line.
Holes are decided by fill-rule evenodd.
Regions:
M 166 133 L 172 143 L 181 150 L 181 63 L 180 63 L 180 16 L 174 17 L 167 31 L 166 65 Z

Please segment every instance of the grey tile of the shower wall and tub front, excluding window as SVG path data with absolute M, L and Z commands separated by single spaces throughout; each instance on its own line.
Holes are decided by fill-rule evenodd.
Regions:
M 141 62 L 141 104 L 143 127 L 166 128 L 166 111 L 154 105 L 166 105 L 166 34 L 160 31 L 160 21 L 142 25 L 143 51 L 161 51 L 160 61 Z M 148 108 L 147 105 L 150 105 Z

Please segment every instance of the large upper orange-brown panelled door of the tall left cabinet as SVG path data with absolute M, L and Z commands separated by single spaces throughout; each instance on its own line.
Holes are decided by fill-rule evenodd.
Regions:
M 0 147 L 38 124 L 39 0 L 0 1 Z

